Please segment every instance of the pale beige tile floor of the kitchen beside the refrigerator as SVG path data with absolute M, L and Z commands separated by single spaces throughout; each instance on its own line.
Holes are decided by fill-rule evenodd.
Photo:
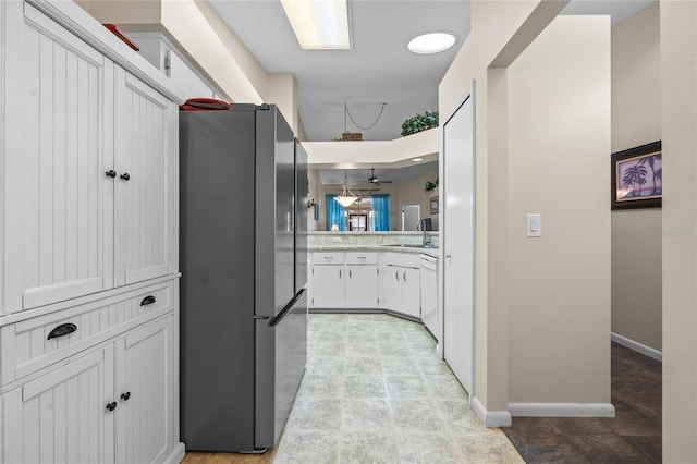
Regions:
M 420 323 L 313 314 L 308 339 L 274 463 L 523 462 L 500 429 L 475 416 Z

